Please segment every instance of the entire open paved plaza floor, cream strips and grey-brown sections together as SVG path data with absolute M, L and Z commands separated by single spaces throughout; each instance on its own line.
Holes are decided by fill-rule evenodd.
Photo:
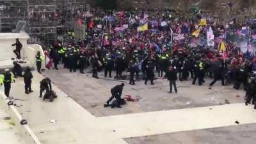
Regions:
M 122 109 L 111 109 L 102 105 L 110 96 L 109 89 L 121 82 L 92 79 L 91 74 L 70 74 L 68 70 L 49 70 L 44 74 L 58 86 L 53 86 L 58 94 L 54 102 L 38 98 L 39 81 L 43 77 L 36 72 L 34 93 L 24 94 L 22 78 L 16 79 L 11 91 L 11 96 L 26 99 L 17 101 L 18 111 L 27 118 L 29 127 L 43 144 L 253 141 L 249 137 L 255 132 L 256 111 L 252 106 L 244 106 L 244 92 L 235 91 L 232 86 L 223 87 L 218 83 L 209 90 L 208 86 L 182 82 L 178 84 L 182 86 L 179 94 L 171 95 L 168 82 L 163 79 L 158 79 L 154 86 L 145 86 L 143 82 L 136 86 L 126 84 L 124 95 L 138 95 L 140 102 L 128 102 Z M 225 100 L 230 104 L 224 104 Z

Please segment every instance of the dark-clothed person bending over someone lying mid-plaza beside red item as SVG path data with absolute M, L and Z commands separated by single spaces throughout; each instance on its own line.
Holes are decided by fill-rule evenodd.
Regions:
M 121 100 L 123 88 L 124 88 L 124 83 L 122 83 L 120 85 L 116 85 L 114 88 L 111 88 L 111 95 L 112 96 L 109 98 L 109 100 L 106 102 L 106 104 L 104 104 L 104 107 L 109 106 L 109 102 L 111 102 L 114 98 L 116 98 L 117 108 L 122 108 L 120 106 L 120 100 Z

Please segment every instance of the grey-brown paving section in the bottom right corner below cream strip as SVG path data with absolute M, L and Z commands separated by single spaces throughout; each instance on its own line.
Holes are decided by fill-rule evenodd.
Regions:
M 255 143 L 256 124 L 174 132 L 140 138 L 127 138 L 129 144 L 241 144 Z

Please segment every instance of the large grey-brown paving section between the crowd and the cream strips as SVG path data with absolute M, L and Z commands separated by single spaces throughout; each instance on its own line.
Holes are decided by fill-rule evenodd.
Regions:
M 93 79 L 92 74 L 70 73 L 68 70 L 49 70 L 44 73 L 67 93 L 84 109 L 94 116 L 121 115 L 129 113 L 142 113 L 147 111 L 161 111 L 168 109 L 196 108 L 202 106 L 216 106 L 244 102 L 244 92 L 236 91 L 232 86 L 220 86 L 220 82 L 209 90 L 210 79 L 206 79 L 204 86 L 193 86 L 191 81 L 178 83 L 179 93 L 170 94 L 168 81 L 157 79 L 155 85 L 147 85 L 143 81 L 136 82 L 136 86 L 125 83 L 124 95 L 138 97 L 139 102 L 129 102 L 123 109 L 103 108 L 103 104 L 110 97 L 110 89 L 116 84 L 114 79 Z M 103 74 L 99 74 L 103 77 Z M 125 81 L 127 82 L 127 81 Z M 239 95 L 240 97 L 236 97 Z

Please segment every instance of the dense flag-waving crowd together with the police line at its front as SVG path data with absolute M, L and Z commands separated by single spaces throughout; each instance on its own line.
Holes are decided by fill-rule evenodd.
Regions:
M 243 83 L 246 105 L 255 104 L 256 22 L 235 17 L 217 24 L 204 14 L 195 14 L 191 19 L 172 15 L 97 11 L 76 16 L 79 24 L 86 24 L 86 38 L 56 40 L 45 52 L 49 58 L 47 68 L 54 63 L 58 70 L 63 63 L 70 72 L 79 69 L 84 74 L 84 69 L 91 67 L 92 77 L 97 79 L 101 70 L 104 77 L 110 78 L 115 70 L 114 79 L 126 79 L 124 72 L 129 72 L 131 85 L 136 84 L 135 79 L 154 84 L 157 74 L 170 80 L 170 93 L 172 87 L 178 92 L 177 80 L 188 81 L 191 77 L 191 84 L 200 86 L 205 84 L 205 77 L 210 77 L 209 88 L 221 81 L 221 85 L 234 84 L 238 90 Z M 69 34 L 74 36 L 73 32 Z M 40 54 L 36 59 L 40 72 Z

